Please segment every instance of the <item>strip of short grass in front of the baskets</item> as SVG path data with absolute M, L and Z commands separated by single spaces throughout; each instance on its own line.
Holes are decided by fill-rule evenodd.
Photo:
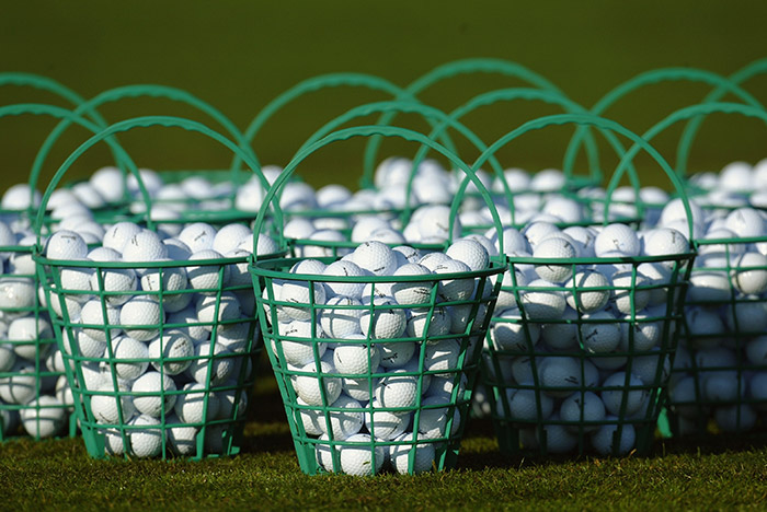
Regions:
M 455 470 L 309 477 L 271 377 L 252 404 L 243 453 L 229 459 L 94 461 L 78 439 L 4 443 L 0 510 L 767 508 L 767 434 L 659 441 L 648 457 L 510 459 L 473 421 Z

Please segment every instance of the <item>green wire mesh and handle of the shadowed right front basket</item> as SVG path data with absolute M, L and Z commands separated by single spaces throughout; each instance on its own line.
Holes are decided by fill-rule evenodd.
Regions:
M 641 148 L 643 151 L 650 154 L 651 158 L 655 160 L 655 162 L 663 168 L 663 171 L 666 173 L 668 179 L 672 182 L 674 187 L 677 189 L 679 197 L 682 198 L 683 205 L 685 207 L 685 211 L 687 214 L 687 220 L 688 220 L 688 228 L 690 230 L 690 233 L 692 231 L 692 216 L 690 212 L 689 203 L 687 200 L 687 197 L 685 195 L 685 189 L 682 181 L 679 177 L 676 175 L 676 173 L 673 172 L 668 163 L 663 159 L 663 156 L 650 146 L 650 143 L 641 138 L 640 136 L 633 133 L 632 131 L 626 129 L 621 125 L 600 118 L 598 116 L 594 116 L 592 114 L 563 114 L 563 115 L 554 115 L 554 116 L 547 116 L 547 117 L 541 117 L 539 119 L 535 119 L 531 121 L 528 121 L 524 124 L 523 126 L 516 128 L 513 131 L 510 131 L 506 136 L 501 137 L 495 143 L 493 143 L 488 151 L 482 154 L 474 165 L 472 165 L 473 168 L 478 168 L 485 160 L 486 158 L 492 154 L 494 151 L 497 151 L 500 148 L 504 147 L 505 144 L 510 143 L 511 141 L 517 139 L 522 135 L 531 131 L 531 130 L 538 130 L 546 128 L 548 126 L 558 126 L 558 125 L 563 125 L 563 124 L 577 124 L 577 125 L 583 125 L 583 126 L 589 126 L 589 127 L 595 127 L 598 129 L 605 129 L 605 130 L 611 130 L 615 131 L 618 135 L 621 135 L 623 137 L 627 137 L 629 140 L 631 140 L 634 143 L 636 148 Z M 636 152 L 636 151 L 634 151 Z M 607 201 L 606 201 L 606 210 L 607 207 L 609 206 L 611 195 L 614 190 L 616 189 L 618 183 L 620 182 L 621 175 L 626 172 L 626 168 L 628 164 L 630 163 L 630 159 L 628 158 L 629 154 L 627 153 L 623 155 L 621 161 L 618 164 L 618 167 L 614 172 L 610 183 L 607 188 Z M 607 211 L 606 211 L 607 213 Z M 605 223 L 607 223 L 608 220 L 607 218 L 605 219 Z M 690 237 L 691 240 L 691 237 Z M 613 431 L 613 437 L 611 437 L 611 443 L 610 443 L 610 452 L 615 455 L 620 454 L 621 450 L 621 437 L 623 433 L 623 430 L 627 428 L 634 429 L 634 424 L 637 428 L 639 428 L 638 431 L 634 430 L 634 435 L 637 440 L 637 449 L 639 452 L 643 453 L 649 449 L 650 441 L 652 439 L 652 433 L 654 432 L 655 429 L 655 421 L 657 418 L 657 415 L 660 414 L 660 408 L 663 404 L 663 399 L 665 396 L 665 384 L 663 382 L 663 379 L 661 376 L 662 368 L 663 368 L 663 360 L 668 360 L 671 361 L 673 359 L 674 350 L 676 347 L 676 342 L 678 340 L 678 335 L 676 333 L 672 333 L 669 330 L 669 321 L 671 319 L 677 319 L 679 317 L 679 311 L 683 307 L 684 304 L 684 290 L 685 290 L 685 283 L 689 279 L 689 272 L 691 270 L 691 260 L 695 257 L 695 245 L 690 244 L 690 251 L 686 254 L 678 254 L 678 255 L 668 255 L 668 256 L 655 256 L 655 257 L 648 257 L 648 256 L 642 256 L 642 257 L 614 257 L 614 258 L 568 258 L 568 259 L 562 259 L 562 258 L 535 258 L 535 257 L 510 257 L 510 264 L 512 269 L 510 270 L 510 276 L 512 277 L 512 287 L 511 291 L 515 296 L 516 304 L 519 306 L 519 318 L 517 321 L 511 321 L 514 324 L 522 324 L 522 333 L 524 335 L 524 339 L 526 340 L 526 349 L 520 348 L 519 354 L 526 356 L 529 358 L 530 361 L 530 366 L 531 366 L 531 379 L 533 383 L 531 384 L 515 384 L 513 382 L 508 382 L 504 380 L 503 371 L 501 368 L 501 362 L 500 362 L 500 357 L 496 354 L 497 348 L 494 348 L 493 340 L 488 337 L 486 338 L 486 350 L 489 351 L 490 359 L 486 360 L 486 363 L 490 364 L 490 368 L 486 369 L 488 374 L 491 375 L 489 377 L 488 384 L 490 387 L 493 389 L 493 393 L 495 394 L 495 398 L 497 402 L 493 402 L 493 398 L 491 397 L 491 409 L 494 411 L 493 412 L 493 419 L 494 423 L 496 427 L 496 431 L 499 434 L 499 443 L 501 444 L 501 449 L 504 453 L 515 453 L 519 449 L 519 426 L 522 424 L 523 427 L 530 427 L 536 429 L 536 435 L 539 440 L 540 443 L 540 449 L 543 453 L 548 453 L 549 446 L 548 446 L 548 441 L 547 441 L 547 428 L 549 426 L 554 426 L 554 424 L 562 424 L 562 426 L 569 426 L 570 428 L 576 428 L 576 446 L 579 447 L 579 451 L 582 452 L 584 449 L 584 437 L 586 434 L 586 428 L 592 428 L 592 427 L 599 427 L 599 426 L 615 426 L 615 430 Z M 589 266 L 594 264 L 598 265 L 630 265 L 631 266 L 631 272 L 629 276 L 629 281 L 626 283 L 626 286 L 607 286 L 607 287 L 587 287 L 586 290 L 589 292 L 594 292 L 596 290 L 604 290 L 604 291 L 609 291 L 611 295 L 625 295 L 625 299 L 629 301 L 630 304 L 630 314 L 627 315 L 623 319 L 614 319 L 613 322 L 629 322 L 631 326 L 633 325 L 640 325 L 639 322 L 640 319 L 637 316 L 637 310 L 640 307 L 637 305 L 637 291 L 639 287 L 639 281 L 638 281 L 638 266 L 640 264 L 645 264 L 645 263 L 661 263 L 663 261 L 664 264 L 673 264 L 673 271 L 672 276 L 669 278 L 669 282 L 664 282 L 662 284 L 655 286 L 654 289 L 663 289 L 663 287 L 671 289 L 671 293 L 673 293 L 673 300 L 666 301 L 665 305 L 665 312 L 664 313 L 659 313 L 659 317 L 652 317 L 652 318 L 644 318 L 641 322 L 655 322 L 655 321 L 663 321 L 663 333 L 661 336 L 661 345 L 660 349 L 657 352 L 646 352 L 646 353 L 641 353 L 641 354 L 655 354 L 657 357 L 659 363 L 656 364 L 656 368 L 654 370 L 654 381 L 652 383 L 642 383 L 641 386 L 638 386 L 637 384 L 632 384 L 630 380 L 630 374 L 631 374 L 631 369 L 633 365 L 633 357 L 638 356 L 640 353 L 634 351 L 634 333 L 632 328 L 628 329 L 628 351 L 626 353 L 622 353 L 623 350 L 619 350 L 618 353 L 616 353 L 617 357 L 625 358 L 625 379 L 622 382 L 617 382 L 614 383 L 610 386 L 597 386 L 597 387 L 588 387 L 585 385 L 585 361 L 584 358 L 589 357 L 589 352 L 586 350 L 584 347 L 584 335 L 582 334 L 582 326 L 583 325 L 588 325 L 588 324 L 598 324 L 598 323 L 604 323 L 606 322 L 605 319 L 589 319 L 589 318 L 583 318 L 581 315 L 580 310 L 576 307 L 577 313 L 577 319 L 576 321 L 569 321 L 566 318 L 551 318 L 551 319 L 545 319 L 542 321 L 541 318 L 531 318 L 528 317 L 528 312 L 526 311 L 525 302 L 523 301 L 523 298 L 520 295 L 520 290 L 526 291 L 526 290 L 535 290 L 536 292 L 542 293 L 546 291 L 552 291 L 552 292 L 558 292 L 561 293 L 562 289 L 558 286 L 551 286 L 551 287 L 527 287 L 527 286 L 520 286 L 519 282 L 517 281 L 517 271 L 516 271 L 516 265 L 536 265 L 540 266 L 539 268 L 551 268 L 553 267 L 562 267 L 564 269 L 569 269 L 570 272 L 572 272 L 573 279 L 577 275 L 579 268 L 583 268 L 581 266 Z M 684 266 L 683 266 L 684 265 Z M 684 269 L 684 276 L 682 276 Z M 644 288 L 644 287 L 643 287 Z M 676 289 L 679 288 L 679 293 L 676 293 Z M 648 290 L 653 289 L 648 287 Z M 646 291 L 644 292 L 646 293 Z M 573 284 L 573 290 L 572 290 L 572 295 L 575 298 L 575 306 L 580 305 L 580 299 L 579 299 L 579 291 L 576 288 L 576 284 Z M 502 321 L 508 323 L 508 319 L 504 318 L 494 318 L 495 322 Z M 604 420 L 602 422 L 597 422 L 596 424 L 592 424 L 591 422 L 586 422 L 583 419 L 584 409 L 581 408 L 580 415 L 581 419 L 575 420 L 575 421 L 568 421 L 568 420 L 562 420 L 560 419 L 550 419 L 548 418 L 548 414 L 543 412 L 543 406 L 542 406 L 542 399 L 541 399 L 541 394 L 542 393 L 551 393 L 551 392 L 558 392 L 559 389 L 557 387 L 547 387 L 543 385 L 541 377 L 539 375 L 539 363 L 538 358 L 543 358 L 547 356 L 550 356 L 550 352 L 543 352 L 540 350 L 536 350 L 535 348 L 535 341 L 537 339 L 534 338 L 533 336 L 533 324 L 539 324 L 539 323 L 554 323 L 554 324 L 570 324 L 574 325 L 575 331 L 577 333 L 577 340 L 579 345 L 575 349 L 569 350 L 569 351 L 561 351 L 557 352 L 557 356 L 560 357 L 571 357 L 575 358 L 575 360 L 580 363 L 580 383 L 579 385 L 572 386 L 572 391 L 575 393 L 581 393 L 582 395 L 582 400 L 584 399 L 584 395 L 586 393 L 586 389 L 588 388 L 589 391 L 597 392 L 602 389 L 603 392 L 606 391 L 613 391 L 616 393 L 620 393 L 621 396 L 621 402 L 619 404 L 619 410 L 616 411 L 617 419 L 616 420 Z M 507 349 L 500 350 L 501 352 L 510 352 Z M 517 353 L 517 351 L 514 351 L 513 353 Z M 604 356 L 610 357 L 609 353 L 605 353 Z M 506 357 L 506 354 L 503 354 L 503 357 Z M 535 395 L 535 417 L 534 418 L 526 418 L 524 420 L 522 419 L 515 419 L 513 418 L 511 414 L 511 406 L 510 406 L 510 398 L 507 396 L 506 391 L 507 389 L 528 389 L 531 391 Z M 642 393 L 648 394 L 648 400 L 650 407 L 646 408 L 646 410 L 638 416 L 638 417 L 632 417 L 628 418 L 628 405 L 627 405 L 627 395 L 628 393 L 636 393 L 639 389 L 641 389 Z M 568 391 L 571 391 L 570 388 Z M 550 400 L 551 398 L 549 398 Z

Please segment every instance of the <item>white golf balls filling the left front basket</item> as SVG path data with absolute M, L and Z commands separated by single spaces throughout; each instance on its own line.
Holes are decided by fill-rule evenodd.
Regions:
M 64 364 L 111 455 L 195 455 L 203 427 L 205 451 L 221 453 L 245 412 L 259 336 L 253 233 L 238 223 L 171 226 L 176 236 L 80 220 L 78 232 L 59 229 L 45 245 L 57 261 L 48 291 L 65 321 Z M 277 246 L 262 235 L 257 252 Z

